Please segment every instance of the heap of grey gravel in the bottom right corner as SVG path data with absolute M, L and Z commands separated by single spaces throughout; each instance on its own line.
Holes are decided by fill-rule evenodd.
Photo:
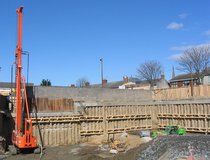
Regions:
M 187 159 L 189 156 L 193 156 L 194 159 L 210 159 L 210 136 L 157 137 L 151 145 L 139 153 L 138 160 L 177 160 Z

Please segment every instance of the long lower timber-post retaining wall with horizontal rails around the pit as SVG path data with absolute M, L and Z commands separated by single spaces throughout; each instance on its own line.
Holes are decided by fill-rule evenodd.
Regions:
M 84 113 L 33 119 L 34 134 L 39 137 L 39 123 L 44 145 L 63 145 L 82 142 L 93 135 L 163 129 L 167 125 L 179 125 L 188 132 L 210 133 L 209 102 L 98 105 L 86 107 Z

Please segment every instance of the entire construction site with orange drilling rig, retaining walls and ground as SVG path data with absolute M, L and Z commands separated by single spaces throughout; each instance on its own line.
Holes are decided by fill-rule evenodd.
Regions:
M 0 159 L 210 159 L 210 85 L 30 85 L 22 76 L 23 7 L 16 12 L 15 82 L 0 84 Z

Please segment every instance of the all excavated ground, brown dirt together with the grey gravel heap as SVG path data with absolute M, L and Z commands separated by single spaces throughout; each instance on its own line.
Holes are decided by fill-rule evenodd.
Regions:
M 136 140 L 137 141 L 137 140 Z M 78 144 L 48 147 L 43 160 L 187 160 L 189 151 L 195 160 L 210 160 L 210 136 L 162 136 L 149 143 L 139 143 L 125 153 L 110 154 L 106 145 Z M 3 156 L 0 157 L 4 158 Z M 6 156 L 8 160 L 39 159 L 35 154 Z M 4 159 L 5 159 L 4 158 Z

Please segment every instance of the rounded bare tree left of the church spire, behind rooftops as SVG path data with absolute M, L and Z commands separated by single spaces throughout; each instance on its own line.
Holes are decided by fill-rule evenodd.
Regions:
M 155 85 L 155 80 L 160 78 L 162 66 L 160 62 L 146 61 L 137 68 L 137 75 L 142 80 L 147 80 L 151 87 Z

